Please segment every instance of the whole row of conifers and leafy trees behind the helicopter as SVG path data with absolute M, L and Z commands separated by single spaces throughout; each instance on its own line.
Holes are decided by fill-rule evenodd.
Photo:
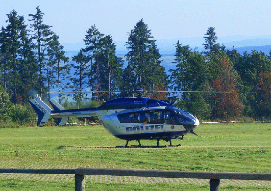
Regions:
M 101 33 L 94 24 L 83 39 L 86 47 L 72 57 L 75 64 L 69 64 L 59 36 L 51 30 L 52 26 L 43 23 L 39 7 L 36 11 L 29 14 L 28 26 L 24 17 L 12 10 L 0 31 L 2 121 L 27 121 L 31 114 L 28 92 L 33 89 L 43 99 L 50 99 L 53 89 L 72 89 L 78 92 L 73 99 L 80 104 L 85 96 L 81 91 L 85 89 L 108 91 L 93 93 L 90 98 L 101 101 L 132 96 L 136 88 L 220 92 L 182 93 L 181 97 L 171 94 L 176 106 L 201 121 L 271 120 L 271 50 L 269 55 L 257 50 L 242 55 L 235 49 L 228 50 L 216 43 L 215 28 L 210 26 L 204 34 L 202 52 L 176 42 L 176 68 L 167 75 L 156 40 L 141 19 L 128 34 L 128 53 L 124 58 L 116 56 L 112 36 Z M 128 64 L 124 67 L 125 61 Z M 113 94 L 114 91 L 121 93 Z M 145 96 L 168 99 L 168 93 Z M 59 101 L 65 102 L 61 93 Z M 15 114 L 24 117 L 18 119 Z

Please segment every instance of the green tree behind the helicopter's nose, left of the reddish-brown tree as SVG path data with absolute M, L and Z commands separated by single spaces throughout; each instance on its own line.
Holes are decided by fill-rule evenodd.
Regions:
M 199 52 L 192 52 L 188 45 L 178 41 L 175 53 L 176 69 L 171 69 L 169 79 L 171 89 L 175 91 L 209 91 L 208 66 L 205 57 Z M 183 93 L 177 106 L 193 113 L 200 119 L 210 117 L 211 105 L 208 94 Z

